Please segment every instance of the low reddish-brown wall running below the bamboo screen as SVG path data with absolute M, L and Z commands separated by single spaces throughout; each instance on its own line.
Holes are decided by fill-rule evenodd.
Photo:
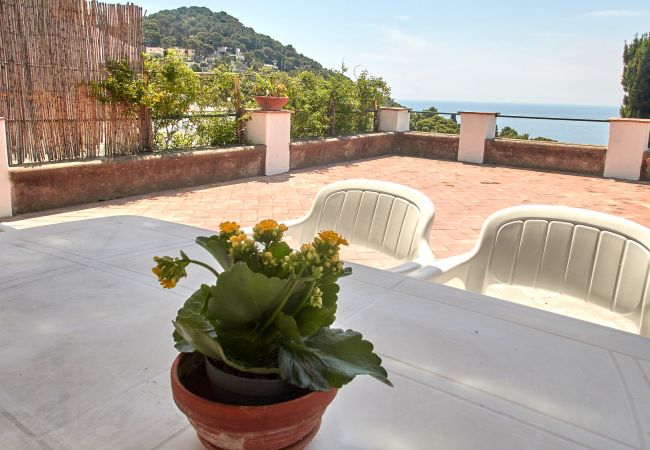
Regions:
M 10 170 L 14 214 L 264 175 L 263 145 Z

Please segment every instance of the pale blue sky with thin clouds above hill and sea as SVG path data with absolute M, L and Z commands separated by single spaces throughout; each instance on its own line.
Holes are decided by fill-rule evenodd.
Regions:
M 225 11 L 398 100 L 618 105 L 624 43 L 650 31 L 648 0 L 132 1 Z

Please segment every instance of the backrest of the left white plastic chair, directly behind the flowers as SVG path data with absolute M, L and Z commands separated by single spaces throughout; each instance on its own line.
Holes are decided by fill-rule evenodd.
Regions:
M 332 229 L 351 244 L 405 260 L 417 253 L 421 240 L 428 241 L 433 217 L 433 203 L 415 189 L 386 181 L 343 180 L 318 192 L 296 237 L 311 240 Z

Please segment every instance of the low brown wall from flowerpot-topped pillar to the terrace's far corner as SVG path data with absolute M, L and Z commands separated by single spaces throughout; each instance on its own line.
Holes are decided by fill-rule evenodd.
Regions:
M 369 133 L 327 139 L 291 142 L 290 167 L 304 169 L 344 161 L 392 154 L 397 146 L 396 133 Z

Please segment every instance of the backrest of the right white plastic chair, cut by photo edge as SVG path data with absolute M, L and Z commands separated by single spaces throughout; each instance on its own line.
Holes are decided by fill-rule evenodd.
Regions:
M 476 251 L 468 289 L 505 283 L 568 294 L 629 315 L 650 335 L 644 226 L 585 209 L 517 206 L 486 220 Z

